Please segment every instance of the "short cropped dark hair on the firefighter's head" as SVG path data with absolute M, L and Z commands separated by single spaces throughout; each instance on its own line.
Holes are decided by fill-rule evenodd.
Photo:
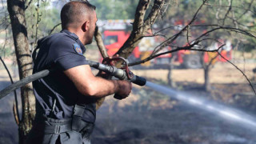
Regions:
M 82 14 L 89 14 L 96 9 L 88 1 L 71 1 L 67 2 L 61 11 L 62 29 L 66 29 L 71 23 L 79 23 L 82 20 Z

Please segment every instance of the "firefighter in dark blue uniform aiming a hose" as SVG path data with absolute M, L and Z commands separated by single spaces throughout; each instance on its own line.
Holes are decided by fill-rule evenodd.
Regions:
M 62 31 L 38 41 L 34 73 L 57 68 L 33 82 L 36 116 L 26 143 L 90 143 L 95 102 L 106 95 L 126 98 L 131 83 L 95 77 L 86 58 L 97 22 L 89 2 L 68 2 L 61 11 Z

